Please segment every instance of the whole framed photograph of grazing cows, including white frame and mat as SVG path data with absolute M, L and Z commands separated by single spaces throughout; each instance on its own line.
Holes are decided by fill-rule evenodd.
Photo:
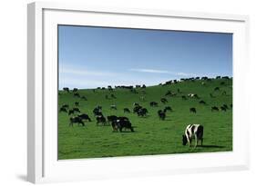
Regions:
M 249 167 L 246 15 L 28 5 L 27 179 Z

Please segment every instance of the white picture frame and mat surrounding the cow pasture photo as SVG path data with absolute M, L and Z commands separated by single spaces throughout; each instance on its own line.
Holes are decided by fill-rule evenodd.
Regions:
M 233 34 L 233 151 L 57 161 L 56 25 L 223 32 Z M 27 11 L 27 180 L 83 181 L 144 175 L 249 169 L 249 121 L 244 81 L 249 17 L 170 10 L 32 3 Z M 135 166 L 136 165 L 136 166 Z

